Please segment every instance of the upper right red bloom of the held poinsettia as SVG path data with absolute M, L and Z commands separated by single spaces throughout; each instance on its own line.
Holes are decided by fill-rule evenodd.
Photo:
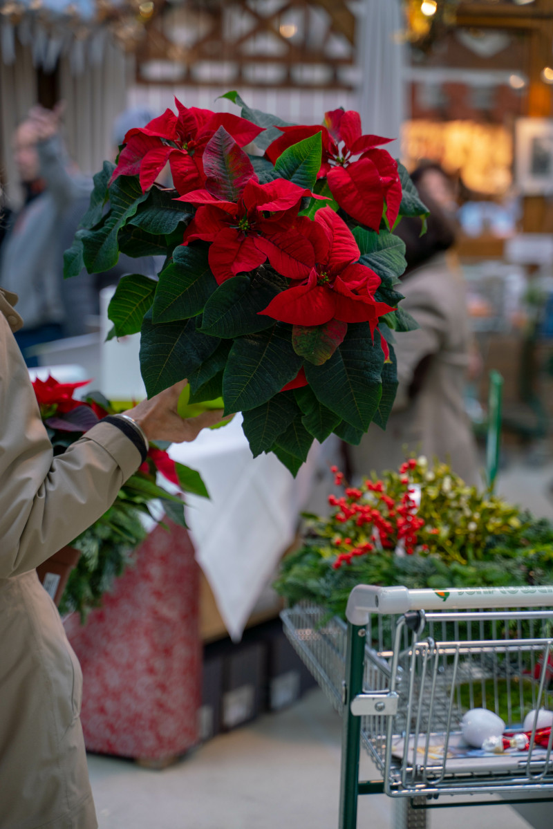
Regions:
M 279 127 L 276 138 L 265 155 L 273 163 L 293 144 L 322 133 L 323 161 L 319 177 L 326 176 L 337 203 L 356 221 L 378 230 L 384 202 L 392 226 L 401 203 L 401 182 L 397 164 L 379 145 L 391 138 L 362 135 L 359 113 L 333 109 L 327 112 L 323 126 Z

